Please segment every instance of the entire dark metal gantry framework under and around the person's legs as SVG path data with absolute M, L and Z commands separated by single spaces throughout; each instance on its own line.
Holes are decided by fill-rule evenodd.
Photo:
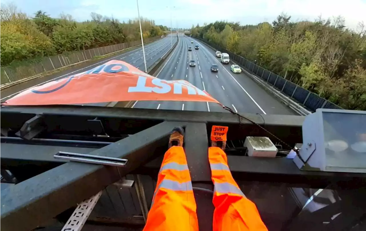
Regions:
M 242 115 L 292 147 L 302 143 L 303 116 Z M 247 136 L 267 136 L 273 143 L 280 142 L 252 122 L 225 112 L 1 107 L 0 174 L 8 187 L 0 189 L 0 230 L 32 230 L 54 218 L 66 222 L 78 204 L 99 194 L 97 215 L 89 220 L 141 230 L 173 127 L 185 130 L 184 149 L 194 188 L 213 190 L 208 162 L 212 125 L 229 127 L 229 147 L 242 145 Z M 232 175 L 257 204 L 269 230 L 362 230 L 365 226 L 365 174 L 301 171 L 291 159 L 252 158 L 233 149 L 227 151 Z M 58 152 L 128 162 L 124 167 L 79 163 L 55 159 Z M 121 189 L 123 185 L 136 192 Z M 303 205 L 294 196 L 300 188 L 326 190 Z M 194 192 L 200 230 L 212 230 L 212 216 L 208 215 L 213 211 L 212 194 Z M 325 193 L 332 196 L 324 199 Z M 311 212 L 308 208 L 313 202 L 323 206 Z M 112 214 L 130 207 L 134 214 L 126 219 Z M 276 215 L 280 216 L 277 223 L 273 221 Z

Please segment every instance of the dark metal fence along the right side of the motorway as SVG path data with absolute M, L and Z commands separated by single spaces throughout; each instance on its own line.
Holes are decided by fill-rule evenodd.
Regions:
M 197 37 L 194 37 L 197 38 Z M 262 80 L 270 84 L 279 90 L 282 94 L 289 96 L 291 99 L 297 101 L 298 103 L 305 106 L 307 109 L 311 111 L 315 111 L 317 108 L 329 108 L 329 109 L 343 109 L 340 106 L 322 98 L 321 96 L 314 94 L 313 92 L 306 90 L 305 88 L 300 87 L 299 85 L 292 83 L 267 69 L 262 68 L 261 66 L 247 60 L 242 56 L 238 56 L 232 52 L 229 52 L 226 49 L 221 48 L 220 46 L 213 44 L 209 41 L 206 41 L 202 38 L 197 38 L 198 40 L 207 43 L 213 48 L 220 50 L 221 52 L 226 52 L 229 54 L 230 59 L 235 61 L 242 68 L 247 69 L 247 71 L 253 73 L 254 75 L 260 77 Z

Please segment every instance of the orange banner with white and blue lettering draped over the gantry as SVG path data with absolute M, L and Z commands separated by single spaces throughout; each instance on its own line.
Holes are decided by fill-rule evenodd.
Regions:
M 62 105 L 115 101 L 198 101 L 219 103 L 185 80 L 161 80 L 112 60 L 60 80 L 30 88 L 4 105 Z

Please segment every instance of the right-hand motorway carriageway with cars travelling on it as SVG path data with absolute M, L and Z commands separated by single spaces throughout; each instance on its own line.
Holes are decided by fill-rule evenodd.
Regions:
M 194 43 L 191 43 L 194 41 Z M 194 46 L 198 44 L 199 49 Z M 188 51 L 188 47 L 192 51 Z M 188 62 L 195 60 L 196 67 Z M 211 72 L 212 64 L 219 66 L 219 72 Z M 213 98 L 234 111 L 260 114 L 295 113 L 287 106 L 270 96 L 259 87 L 245 72 L 232 73 L 230 64 L 221 64 L 215 56 L 215 50 L 193 38 L 179 35 L 179 42 L 167 63 L 158 73 L 159 79 L 187 80 L 201 90 L 207 91 Z M 134 108 L 191 110 L 191 111 L 227 111 L 217 103 L 179 102 L 179 101 L 139 101 Z

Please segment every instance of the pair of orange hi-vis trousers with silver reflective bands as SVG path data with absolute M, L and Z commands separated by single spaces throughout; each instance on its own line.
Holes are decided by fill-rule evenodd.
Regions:
M 225 152 L 210 147 L 214 183 L 213 231 L 267 231 L 255 204 L 232 178 Z M 144 231 L 198 231 L 191 177 L 182 147 L 165 153 Z

